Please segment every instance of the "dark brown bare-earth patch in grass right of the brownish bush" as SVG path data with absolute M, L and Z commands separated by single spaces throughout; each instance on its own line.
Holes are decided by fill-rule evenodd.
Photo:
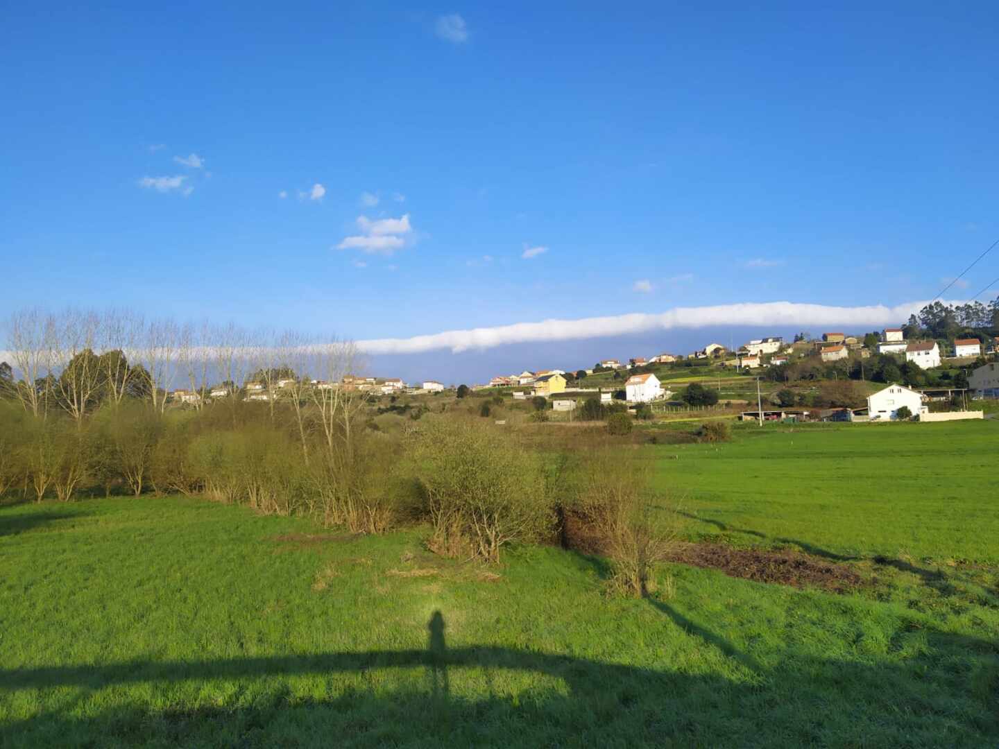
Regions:
M 669 560 L 718 569 L 729 577 L 795 587 L 820 587 L 837 593 L 852 590 L 863 581 L 845 564 L 800 551 L 733 548 L 723 543 L 678 543 L 669 554 Z

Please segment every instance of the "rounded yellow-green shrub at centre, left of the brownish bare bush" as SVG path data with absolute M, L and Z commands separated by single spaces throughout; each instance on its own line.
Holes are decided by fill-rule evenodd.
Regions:
M 512 541 L 550 532 L 540 456 L 477 421 L 439 422 L 417 438 L 432 550 L 490 562 Z

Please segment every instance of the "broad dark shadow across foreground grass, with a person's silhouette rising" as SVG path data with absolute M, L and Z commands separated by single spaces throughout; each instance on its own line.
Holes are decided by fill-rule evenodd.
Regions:
M 999 735 L 996 643 L 931 633 L 923 651 L 906 660 L 871 665 L 798 656 L 787 667 L 766 669 L 676 607 L 648 601 L 687 636 L 751 673 L 726 677 L 697 666 L 675 670 L 665 662 L 635 666 L 508 647 L 449 648 L 444 615 L 436 611 L 426 649 L 0 671 L 0 708 L 24 690 L 76 699 L 63 710 L 0 723 L 0 744 L 888 746 L 933 745 L 946 735 L 951 746 L 977 746 Z M 673 627 L 660 632 L 677 634 Z M 956 654 L 970 657 L 967 680 L 942 668 Z M 385 679 L 376 680 L 383 685 L 377 691 L 353 681 L 338 685 L 339 674 L 408 668 L 426 669 L 432 688 L 386 693 Z M 493 685 L 503 673 L 513 678 L 498 693 Z M 465 696 L 453 692 L 456 674 L 466 679 Z M 315 681 L 296 696 L 299 676 L 322 677 L 327 696 L 316 695 Z M 178 708 L 192 699 L 188 682 L 200 684 L 203 694 L 212 694 L 214 683 L 218 693 L 245 695 L 249 689 L 254 696 Z M 168 707 L 130 696 L 124 699 L 131 702 L 107 706 L 109 698 L 128 695 L 122 687 L 130 684 L 148 685 L 136 694 Z M 845 713 L 824 707 L 844 704 L 851 707 Z

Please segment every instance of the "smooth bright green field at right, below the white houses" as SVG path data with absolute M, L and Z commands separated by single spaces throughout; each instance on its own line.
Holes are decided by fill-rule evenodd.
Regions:
M 840 555 L 999 564 L 999 422 L 740 425 L 676 445 L 659 486 L 691 532 Z

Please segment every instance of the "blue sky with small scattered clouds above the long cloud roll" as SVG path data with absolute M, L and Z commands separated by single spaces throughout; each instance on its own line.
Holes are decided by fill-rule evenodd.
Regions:
M 994 3 L 536 5 L 7 4 L 6 305 L 357 340 L 893 307 L 999 236 Z

